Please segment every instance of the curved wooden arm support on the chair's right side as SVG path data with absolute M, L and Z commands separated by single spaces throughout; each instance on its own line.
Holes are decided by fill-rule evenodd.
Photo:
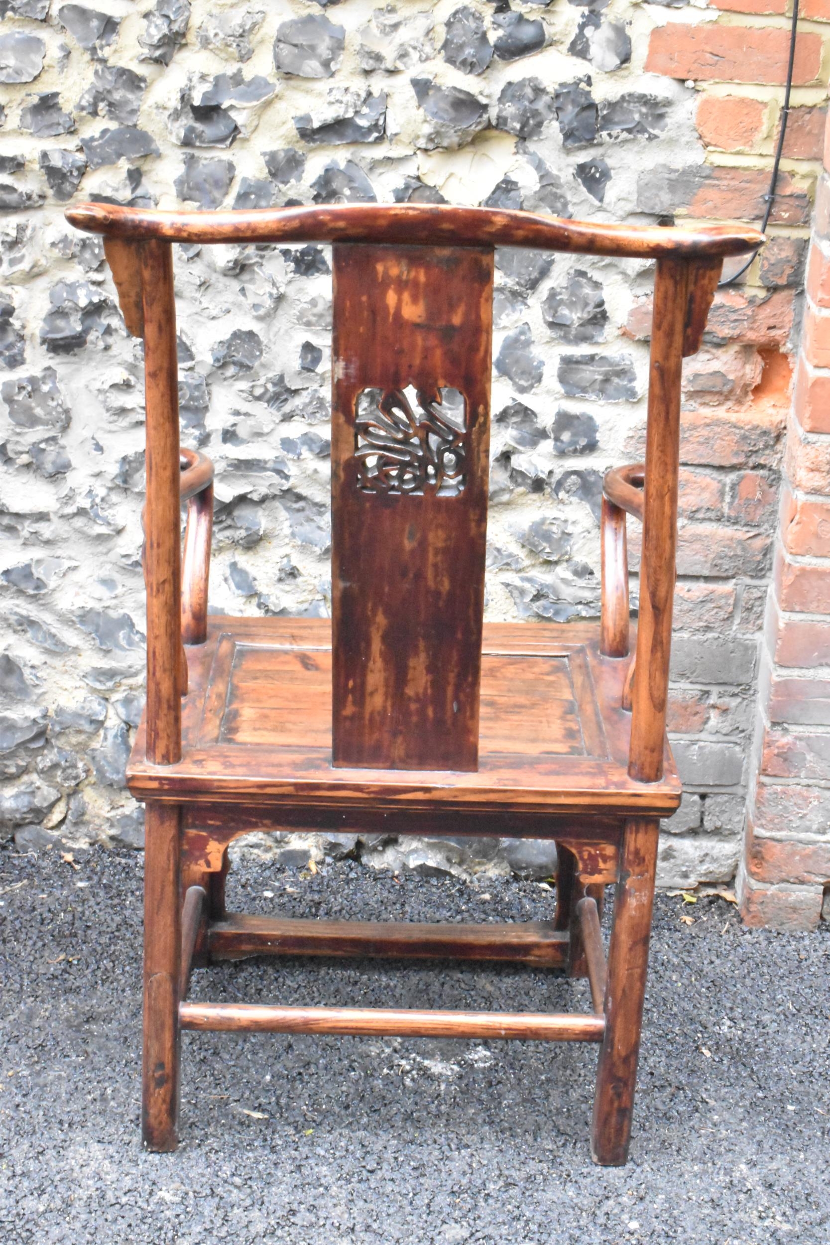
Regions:
M 602 555 L 602 615 L 600 652 L 628 656 L 628 549 L 626 514 L 642 519 L 643 463 L 610 471 L 602 482 L 600 540 Z

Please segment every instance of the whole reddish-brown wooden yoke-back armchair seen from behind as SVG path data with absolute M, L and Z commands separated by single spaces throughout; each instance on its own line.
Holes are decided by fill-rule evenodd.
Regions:
M 177 1144 L 182 1030 L 550 1038 L 599 1043 L 592 1153 L 625 1163 L 658 824 L 681 798 L 666 741 L 681 365 L 723 258 L 760 235 L 433 205 L 85 204 L 67 218 L 103 234 L 127 327 L 144 340 L 147 707 L 128 784 L 147 806 L 146 1144 Z M 213 468 L 179 448 L 175 242 L 333 244 L 331 624 L 208 616 Z M 483 626 L 495 247 L 657 260 L 646 462 L 605 479 L 599 625 Z M 636 662 L 626 514 L 643 524 Z M 442 926 L 228 914 L 228 844 L 286 827 L 554 839 L 555 915 Z M 268 952 L 557 967 L 587 976 L 591 1010 L 187 1001 L 194 964 Z

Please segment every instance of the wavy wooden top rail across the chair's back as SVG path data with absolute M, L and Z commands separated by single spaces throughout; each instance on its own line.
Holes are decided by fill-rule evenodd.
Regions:
M 81 203 L 66 219 L 77 229 L 131 242 L 365 242 L 427 247 L 531 247 L 640 259 L 740 255 L 764 240 L 748 227 L 701 229 L 615 225 L 541 217 L 500 208 L 449 204 L 350 203 L 331 207 L 255 208 L 246 212 L 144 212 Z

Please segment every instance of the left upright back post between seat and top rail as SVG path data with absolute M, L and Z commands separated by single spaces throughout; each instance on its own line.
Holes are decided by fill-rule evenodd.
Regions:
M 141 244 L 147 407 L 147 759 L 182 756 L 179 402 L 173 254 Z

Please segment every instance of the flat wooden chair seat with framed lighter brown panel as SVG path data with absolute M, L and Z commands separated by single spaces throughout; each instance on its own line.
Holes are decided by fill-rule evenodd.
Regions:
M 139 728 L 133 794 L 454 806 L 506 812 L 671 813 L 679 784 L 667 748 L 660 783 L 627 774 L 627 660 L 599 654 L 592 624 L 488 624 L 482 657 L 479 767 L 367 769 L 331 763 L 331 630 L 325 619 L 210 620 L 188 649 L 182 759 L 153 766 Z

